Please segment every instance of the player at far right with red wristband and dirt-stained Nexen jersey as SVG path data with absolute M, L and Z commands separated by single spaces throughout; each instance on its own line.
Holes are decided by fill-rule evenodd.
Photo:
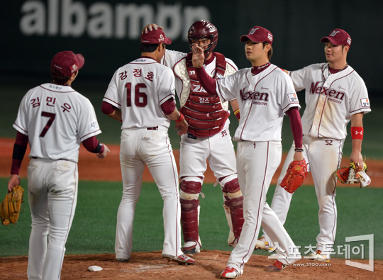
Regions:
M 316 252 L 309 257 L 328 261 L 336 233 L 335 170 L 340 167 L 342 149 L 351 121 L 353 151 L 350 161 L 362 167 L 362 138 L 364 113 L 371 111 L 367 89 L 362 78 L 347 64 L 351 37 L 345 30 L 334 29 L 327 37 L 324 51 L 327 63 L 309 65 L 288 72 L 296 91 L 306 90 L 306 110 L 302 116 L 303 155 L 313 176 L 319 205 L 320 233 L 316 237 Z M 282 223 L 286 221 L 292 194 L 279 187 L 292 159 L 296 143 L 284 162 L 278 179 L 272 209 Z M 272 244 L 268 232 L 257 241 L 257 248 L 270 250 Z

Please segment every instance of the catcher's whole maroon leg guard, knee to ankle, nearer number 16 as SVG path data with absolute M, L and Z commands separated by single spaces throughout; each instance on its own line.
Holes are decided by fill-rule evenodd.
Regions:
M 193 181 L 191 181 L 193 180 Z M 199 193 L 202 189 L 202 180 L 198 177 L 187 177 L 181 181 L 179 201 L 181 203 L 182 234 L 184 236 L 185 254 L 199 253 L 201 241 L 199 240 Z

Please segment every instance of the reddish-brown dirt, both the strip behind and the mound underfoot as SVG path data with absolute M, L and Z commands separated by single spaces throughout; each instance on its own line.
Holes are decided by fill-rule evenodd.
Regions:
M 13 139 L 0 138 L 0 177 L 9 177 L 11 169 L 11 155 Z M 111 153 L 106 159 L 100 161 L 95 155 L 87 152 L 84 147 L 80 148 L 79 154 L 79 179 L 81 180 L 105 180 L 121 181 L 121 169 L 119 164 L 119 146 L 109 145 Z M 29 150 L 27 150 L 27 155 Z M 179 159 L 178 151 L 174 151 L 176 160 Z M 286 155 L 284 155 L 282 162 Z M 21 177 L 26 177 L 26 166 L 29 159 L 26 157 L 21 167 Z M 383 186 L 383 162 L 367 160 L 367 174 L 372 179 L 370 186 Z M 348 158 L 343 159 L 343 166 L 348 166 Z M 277 183 L 280 169 L 272 179 L 272 184 Z M 210 169 L 205 174 L 205 182 L 216 181 Z M 144 181 L 152 181 L 152 177 L 145 169 Z M 312 177 L 306 179 L 306 185 L 313 185 Z M 338 186 L 344 186 L 338 183 Z M 131 261 L 127 263 L 116 262 L 114 254 L 87 254 L 65 256 L 62 267 L 61 279 L 77 280 L 115 280 L 115 279 L 220 279 L 221 271 L 226 267 L 230 252 L 202 250 L 196 255 L 196 264 L 182 266 L 174 262 L 166 262 L 161 258 L 161 252 L 133 252 Z M 274 260 L 267 256 L 253 255 L 240 279 L 383 279 L 383 261 L 374 262 L 374 272 L 357 269 L 345 265 L 345 259 L 331 259 L 328 264 L 309 260 L 299 260 L 298 266 L 290 266 L 282 272 L 270 273 L 265 267 Z M 357 261 L 362 262 L 362 261 Z M 364 262 L 366 263 L 366 262 Z M 27 279 L 26 270 L 28 257 L 1 257 L 0 279 L 22 280 Z M 102 271 L 87 271 L 87 268 L 96 265 L 102 267 Z

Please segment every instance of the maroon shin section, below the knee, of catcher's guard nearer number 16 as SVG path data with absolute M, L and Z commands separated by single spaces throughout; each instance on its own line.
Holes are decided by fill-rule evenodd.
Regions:
M 199 220 L 199 200 L 179 199 L 181 203 L 181 223 L 184 242 L 199 242 L 198 220 Z M 195 246 L 194 246 L 195 247 Z M 192 248 L 184 247 L 182 250 Z

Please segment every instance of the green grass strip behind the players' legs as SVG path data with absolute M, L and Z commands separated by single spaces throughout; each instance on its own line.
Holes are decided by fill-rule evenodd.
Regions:
M 0 178 L 0 196 L 6 194 L 6 178 Z M 27 186 L 22 179 L 22 186 Z M 267 201 L 271 203 L 275 186 Z M 0 257 L 28 254 L 30 210 L 27 188 L 24 212 L 13 226 L 0 225 Z M 80 181 L 77 209 L 67 240 L 66 254 L 113 253 L 116 215 L 121 200 L 122 184 L 118 182 Z M 222 195 L 218 186 L 204 184 L 201 198 L 200 235 L 206 250 L 231 250 L 226 243 L 228 227 L 223 213 Z M 335 245 L 345 245 L 345 237 L 374 234 L 375 259 L 383 259 L 383 189 L 338 188 L 338 230 Z M 318 203 L 312 186 L 302 186 L 292 200 L 285 228 L 296 245 L 316 245 L 318 235 Z M 144 183 L 138 200 L 133 230 L 133 252 L 162 250 L 164 238 L 162 198 L 157 186 Z M 365 245 L 367 250 L 367 245 Z M 365 251 L 367 252 L 367 251 Z M 255 251 L 255 254 L 268 254 Z M 303 254 L 304 255 L 304 254 Z M 339 256 L 343 257 L 343 256 Z

